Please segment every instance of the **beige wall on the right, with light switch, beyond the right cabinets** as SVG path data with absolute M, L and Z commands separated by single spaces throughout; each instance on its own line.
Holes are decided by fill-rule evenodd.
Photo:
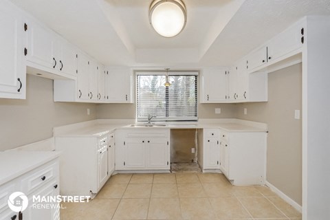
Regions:
M 269 74 L 268 102 L 237 104 L 237 118 L 268 124 L 267 181 L 302 203 L 301 64 Z M 243 109 L 248 114 L 243 114 Z M 300 113 L 301 115 L 301 113 Z

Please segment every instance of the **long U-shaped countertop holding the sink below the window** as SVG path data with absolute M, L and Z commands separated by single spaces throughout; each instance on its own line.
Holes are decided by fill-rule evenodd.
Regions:
M 199 122 L 159 123 L 162 126 L 132 126 L 132 121 L 95 120 L 56 128 L 54 137 L 100 137 L 116 129 L 222 129 L 227 132 L 267 132 L 267 124 L 237 119 L 200 120 Z M 70 128 L 70 129 L 68 129 Z M 55 129 L 54 129 L 55 131 Z

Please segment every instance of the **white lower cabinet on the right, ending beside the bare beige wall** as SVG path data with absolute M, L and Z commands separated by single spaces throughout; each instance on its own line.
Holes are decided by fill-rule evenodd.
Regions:
M 220 170 L 232 184 L 265 184 L 267 133 L 221 131 L 220 141 Z

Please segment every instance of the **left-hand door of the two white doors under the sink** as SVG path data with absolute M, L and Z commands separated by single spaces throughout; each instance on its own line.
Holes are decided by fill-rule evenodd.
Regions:
M 126 169 L 145 168 L 144 145 L 144 140 L 133 138 L 126 140 L 124 143 L 124 167 Z

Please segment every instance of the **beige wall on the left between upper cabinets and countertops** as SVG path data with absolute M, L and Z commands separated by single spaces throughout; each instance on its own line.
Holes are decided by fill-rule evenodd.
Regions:
M 53 102 L 52 80 L 28 75 L 26 92 L 26 100 L 0 98 L 0 151 L 52 137 L 54 126 L 96 119 L 96 104 Z

